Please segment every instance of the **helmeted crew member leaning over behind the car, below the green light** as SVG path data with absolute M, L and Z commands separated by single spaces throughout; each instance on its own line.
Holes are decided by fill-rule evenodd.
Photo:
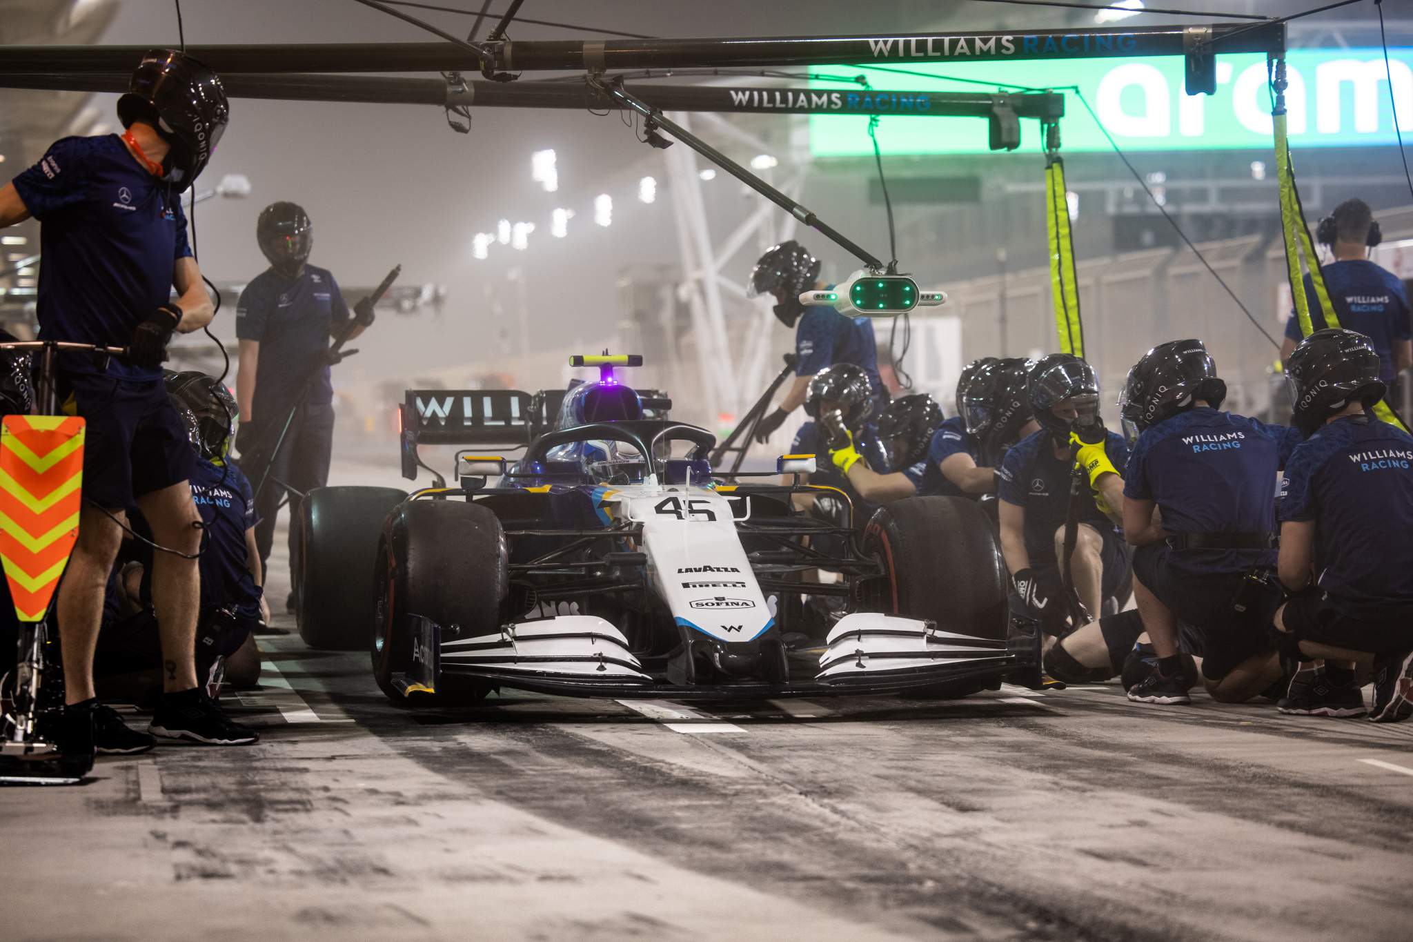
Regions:
M 773 295 L 776 318 L 796 332 L 796 380 L 776 411 L 756 425 L 757 442 L 770 438 L 793 411 L 804 405 L 810 380 L 835 363 L 852 363 L 869 374 L 875 415 L 887 401 L 883 377 L 879 376 L 877 345 L 870 319 L 849 318 L 825 305 L 800 304 L 803 291 L 822 287 L 815 281 L 818 277 L 820 260 L 794 240 L 766 251 L 750 271 L 750 294 Z M 872 425 L 869 431 L 872 432 Z M 822 455 L 827 449 L 828 442 L 821 439 L 811 422 L 805 422 L 793 451 Z

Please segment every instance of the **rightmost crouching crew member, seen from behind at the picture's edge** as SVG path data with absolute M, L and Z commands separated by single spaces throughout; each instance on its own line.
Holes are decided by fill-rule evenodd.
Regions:
M 1303 662 L 1283 713 L 1361 716 L 1355 669 L 1373 662 L 1375 722 L 1413 716 L 1413 436 L 1369 407 L 1385 394 L 1378 352 L 1352 330 L 1317 330 L 1286 364 L 1310 438 L 1286 465 L 1280 652 Z M 1318 578 L 1316 578 L 1318 573 Z M 1317 672 L 1317 660 L 1324 660 Z

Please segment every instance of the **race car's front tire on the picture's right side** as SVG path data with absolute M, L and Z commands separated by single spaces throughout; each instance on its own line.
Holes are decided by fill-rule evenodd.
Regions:
M 1007 578 L 1000 541 L 986 513 L 962 497 L 907 497 L 880 507 L 863 530 L 863 554 L 883 562 L 865 606 L 935 621 L 944 631 L 1006 640 Z M 993 681 L 928 688 L 927 696 L 965 696 Z

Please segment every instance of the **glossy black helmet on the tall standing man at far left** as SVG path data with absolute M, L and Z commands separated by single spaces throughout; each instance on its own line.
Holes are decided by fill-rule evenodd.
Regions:
M 123 127 L 146 121 L 170 145 L 162 179 L 185 192 L 205 169 L 230 120 L 230 103 L 216 73 L 185 52 L 151 49 L 117 99 Z

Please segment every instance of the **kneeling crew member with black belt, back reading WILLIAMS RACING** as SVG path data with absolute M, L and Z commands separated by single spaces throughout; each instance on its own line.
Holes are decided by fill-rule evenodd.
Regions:
M 1214 699 L 1238 703 L 1280 679 L 1263 573 L 1276 562 L 1277 472 L 1300 432 L 1219 412 L 1225 397 L 1201 340 L 1153 347 L 1123 388 L 1123 429 L 1136 435 L 1123 532 L 1137 547 L 1133 595 L 1156 654 L 1129 689 L 1139 703 L 1191 702 L 1178 619 L 1201 637 L 1202 684 Z

